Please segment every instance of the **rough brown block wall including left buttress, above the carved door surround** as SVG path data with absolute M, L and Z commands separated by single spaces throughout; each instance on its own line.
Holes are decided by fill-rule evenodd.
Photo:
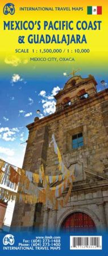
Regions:
M 107 93 L 102 97 L 95 95 L 92 99 L 80 102 L 80 107 L 79 105 L 78 107 L 69 106 L 69 111 L 66 109 L 61 113 L 49 115 L 47 121 L 44 122 L 43 119 L 40 119 L 37 124 L 34 122 L 32 127 L 28 127 L 30 135 L 23 168 L 39 172 L 39 164 L 43 163 L 45 174 L 59 174 L 58 159 L 53 144 L 49 147 L 52 134 L 54 134 L 67 168 L 73 163 L 80 162 L 83 168 L 103 172 L 108 158 L 107 112 L 105 112 L 107 102 Z M 84 146 L 73 150 L 71 137 L 81 131 L 84 135 Z M 35 205 L 30 205 L 29 208 L 30 213 L 28 213 L 27 205 L 17 204 L 15 206 L 12 226 L 31 227 L 34 225 Z

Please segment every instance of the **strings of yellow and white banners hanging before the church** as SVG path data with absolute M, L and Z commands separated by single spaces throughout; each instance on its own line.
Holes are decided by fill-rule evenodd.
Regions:
M 58 150 L 57 152 L 59 156 L 59 161 L 61 161 L 62 159 L 61 159 L 60 151 Z M 5 170 L 2 171 L 2 168 L 5 166 L 5 164 L 7 164 L 5 161 L 0 160 L 0 183 L 2 182 L 3 176 L 5 175 Z M 41 177 L 43 187 L 40 188 L 38 186 L 35 187 L 35 184 L 30 182 L 30 180 L 26 176 L 26 171 L 16 167 L 14 169 L 14 167 L 9 164 L 9 172 L 6 172 L 6 175 L 9 176 L 8 179 L 11 181 L 11 183 L 13 183 L 14 185 L 19 184 L 19 189 L 18 189 L 18 192 L 15 193 L 14 191 L 10 191 L 5 188 L 0 188 L 1 198 L 2 200 L 7 200 L 7 201 L 16 199 L 19 201 L 24 201 L 24 203 L 28 203 L 28 204 L 34 204 L 34 203 L 46 204 L 46 201 L 50 200 L 52 204 L 55 204 L 55 208 L 57 207 L 57 205 L 59 205 L 59 207 L 62 207 L 62 205 L 66 204 L 69 199 L 70 192 L 72 189 L 72 181 L 73 181 L 73 176 L 69 172 L 67 167 L 65 167 L 65 170 L 67 171 L 64 174 L 64 180 L 63 180 L 63 175 L 52 176 L 52 183 L 55 183 L 57 181 L 60 182 L 62 180 L 63 182 L 54 187 L 50 187 L 49 177 L 45 176 L 44 167 L 43 165 L 41 165 L 40 174 L 39 175 L 32 174 L 34 183 L 39 183 L 40 177 Z M 8 186 L 8 179 L 6 177 L 7 186 Z M 71 184 L 70 184 L 68 193 L 65 196 L 65 199 L 56 199 L 57 197 L 60 197 L 62 195 L 63 191 L 65 191 L 65 188 L 70 183 L 70 180 L 71 180 Z M 26 193 L 24 193 L 24 191 L 26 191 Z M 35 195 L 34 195 L 34 191 L 35 191 Z M 56 192 L 58 191 L 57 195 L 55 191 Z

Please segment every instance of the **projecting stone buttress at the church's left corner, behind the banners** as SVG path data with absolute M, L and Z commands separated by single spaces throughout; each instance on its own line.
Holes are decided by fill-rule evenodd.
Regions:
M 32 126 L 28 125 L 28 130 L 30 130 L 30 134 L 28 137 L 26 153 L 24 156 L 23 169 L 38 174 L 40 164 L 43 163 L 45 168 L 45 163 L 47 160 L 48 127 L 47 125 L 45 125 L 44 127 L 36 129 L 36 123 L 38 125 L 39 118 L 35 118 L 35 122 L 34 124 L 32 124 Z M 30 220 L 27 220 L 28 207 L 29 205 L 26 205 L 25 203 L 15 203 L 11 226 L 19 226 L 19 228 L 22 225 L 25 226 L 25 228 L 26 226 L 34 226 L 34 223 L 32 222 L 31 218 Z M 31 212 L 31 216 L 32 214 L 34 216 L 35 204 L 32 204 L 32 210 L 30 209 L 29 211 Z

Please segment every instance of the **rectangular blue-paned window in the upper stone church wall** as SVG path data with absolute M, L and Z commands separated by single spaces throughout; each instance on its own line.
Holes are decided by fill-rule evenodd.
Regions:
M 78 133 L 72 135 L 72 148 L 78 148 L 84 146 L 83 134 Z

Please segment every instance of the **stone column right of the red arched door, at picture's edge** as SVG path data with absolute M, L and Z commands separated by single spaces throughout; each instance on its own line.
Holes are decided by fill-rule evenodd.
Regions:
M 99 209 L 99 219 L 100 219 L 100 228 L 105 230 L 107 227 L 107 223 L 106 223 L 106 214 L 105 214 L 105 207 L 104 207 L 104 203 L 99 203 L 97 204 L 97 207 Z

